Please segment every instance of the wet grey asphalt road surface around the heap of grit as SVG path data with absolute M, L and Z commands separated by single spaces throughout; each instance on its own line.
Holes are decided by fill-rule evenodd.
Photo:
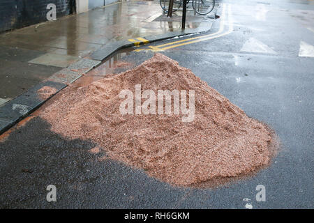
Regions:
M 314 5 L 224 2 L 234 31 L 162 53 L 276 131 L 282 146 L 270 167 L 217 189 L 172 187 L 142 170 L 98 162 L 102 154 L 88 152 L 93 142 L 64 139 L 36 117 L 0 143 L 0 208 L 313 208 L 314 58 L 298 55 L 301 41 L 314 45 Z M 257 17 L 256 8 L 267 16 Z M 217 20 L 211 33 L 219 26 Z M 261 43 L 264 52 L 257 52 Z M 136 65 L 153 54 L 130 52 L 121 60 Z M 57 202 L 46 201 L 47 185 L 57 186 Z M 265 202 L 255 200 L 257 185 L 266 188 Z

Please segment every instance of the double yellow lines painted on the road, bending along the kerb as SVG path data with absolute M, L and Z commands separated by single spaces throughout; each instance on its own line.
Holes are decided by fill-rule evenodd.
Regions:
M 225 31 L 225 11 L 227 8 L 227 25 L 228 25 L 228 29 L 227 31 Z M 231 12 L 231 6 L 230 4 L 226 6 L 226 4 L 223 4 L 223 13 L 221 15 L 221 21 L 220 21 L 220 26 L 219 26 L 219 30 L 216 33 L 211 33 L 209 35 L 204 35 L 204 36 L 197 36 L 194 38 L 187 38 L 184 40 L 178 40 L 178 41 L 174 41 L 172 43 L 165 43 L 162 45 L 157 45 L 157 46 L 149 46 L 148 49 L 135 49 L 136 52 L 142 51 L 142 50 L 151 50 L 154 52 L 158 52 L 158 51 L 164 51 L 167 49 L 172 49 L 174 47 L 180 47 L 183 45 L 188 45 L 188 44 L 192 44 L 192 43 L 198 43 L 198 42 L 202 42 L 205 40 L 211 40 L 214 38 L 218 38 L 221 36 L 225 36 L 229 33 L 231 33 L 233 31 L 233 23 L 232 23 L 232 12 Z

